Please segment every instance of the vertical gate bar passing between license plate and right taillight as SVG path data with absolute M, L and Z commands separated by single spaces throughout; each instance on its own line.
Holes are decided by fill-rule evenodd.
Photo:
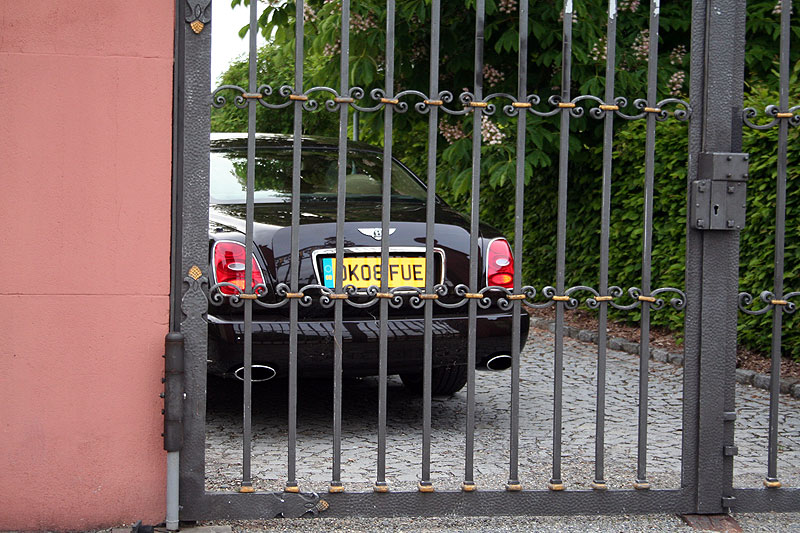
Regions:
M 475 5 L 475 101 L 483 100 L 483 26 L 485 0 L 477 0 Z M 481 118 L 480 107 L 473 108 L 472 122 L 472 199 L 470 201 L 470 246 L 469 246 L 469 287 L 472 293 L 478 292 L 478 232 L 480 230 L 480 196 L 481 196 Z M 474 455 L 475 455 L 475 351 L 478 301 L 469 299 L 467 315 L 467 430 L 464 457 L 465 490 L 474 490 Z

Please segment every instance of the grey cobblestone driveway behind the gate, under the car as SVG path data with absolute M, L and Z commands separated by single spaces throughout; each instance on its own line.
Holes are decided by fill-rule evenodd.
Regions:
M 391 348 L 390 348 L 391 349 Z M 552 473 L 553 336 L 532 329 L 522 354 L 520 479 L 544 489 Z M 567 489 L 587 488 L 594 476 L 597 347 L 565 339 L 562 479 Z M 636 356 L 609 351 L 606 480 L 629 488 L 636 476 L 638 401 Z M 683 369 L 650 362 L 647 473 L 654 488 L 680 486 Z M 508 478 L 510 372 L 477 374 L 475 482 L 502 490 Z M 376 378 L 345 380 L 342 407 L 342 481 L 348 491 L 370 491 L 377 454 Z M 760 487 L 766 473 L 766 391 L 737 384 L 735 485 Z M 253 387 L 253 484 L 279 491 L 286 479 L 287 388 L 283 382 Z M 303 491 L 326 492 L 331 476 L 332 387 L 299 383 L 297 477 Z M 241 386 L 209 383 L 206 488 L 235 490 L 241 478 Z M 781 397 L 779 479 L 800 486 L 800 400 Z M 433 399 L 432 481 L 437 490 L 459 490 L 464 472 L 466 393 Z M 399 379 L 388 386 L 387 481 L 391 490 L 416 490 L 420 473 L 422 402 Z

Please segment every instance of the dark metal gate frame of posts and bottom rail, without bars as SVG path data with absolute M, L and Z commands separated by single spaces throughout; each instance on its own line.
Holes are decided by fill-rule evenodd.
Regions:
M 657 0 L 655 0 L 657 1 Z M 180 516 L 184 520 L 300 516 L 319 497 L 295 493 L 205 492 L 208 302 L 208 132 L 211 0 L 175 0 L 173 254 L 171 329 L 185 337 L 184 446 Z M 693 0 L 688 187 L 701 152 L 741 149 L 746 6 Z M 206 31 L 203 31 L 204 28 Z M 736 44 L 730 46 L 730 28 Z M 711 58 L 713 57 L 713 61 Z M 713 95 L 713 97 L 712 97 Z M 689 209 L 687 209 L 688 217 Z M 327 494 L 326 516 L 480 516 L 603 513 L 701 513 L 796 510 L 800 489 L 732 487 L 739 232 L 703 231 L 687 220 L 681 488 Z M 720 342 L 722 341 L 722 342 Z M 172 495 L 175 496 L 174 494 Z M 168 496 L 168 499 L 170 496 Z M 172 524 L 170 524 L 172 525 Z

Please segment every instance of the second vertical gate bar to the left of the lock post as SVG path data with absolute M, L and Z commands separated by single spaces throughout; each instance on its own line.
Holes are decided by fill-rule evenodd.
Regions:
M 608 3 L 606 32 L 606 105 L 614 103 L 614 72 L 616 68 L 617 4 Z M 614 144 L 614 112 L 606 111 L 603 124 L 603 192 L 600 212 L 600 294 L 608 295 L 609 226 L 611 220 L 611 168 Z M 608 302 L 600 302 L 597 330 L 597 410 L 595 414 L 594 481 L 592 488 L 604 490 L 605 481 L 605 419 L 606 419 L 606 348 L 608 332 Z

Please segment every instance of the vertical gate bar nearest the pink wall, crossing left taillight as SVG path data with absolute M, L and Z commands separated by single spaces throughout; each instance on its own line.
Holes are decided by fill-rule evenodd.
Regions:
M 256 84 L 256 65 L 258 62 L 258 2 L 250 4 L 250 54 L 248 57 L 248 91 L 252 94 L 258 90 Z M 247 211 L 245 214 L 245 293 L 253 291 L 253 203 L 255 195 L 256 175 L 256 105 L 255 99 L 247 101 Z M 253 491 L 253 478 L 250 469 L 252 457 L 252 407 L 253 407 L 253 301 L 244 301 L 244 418 L 242 429 L 242 486 L 241 492 Z

